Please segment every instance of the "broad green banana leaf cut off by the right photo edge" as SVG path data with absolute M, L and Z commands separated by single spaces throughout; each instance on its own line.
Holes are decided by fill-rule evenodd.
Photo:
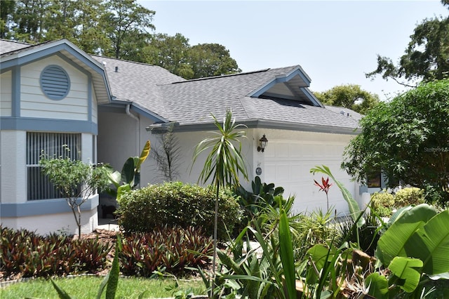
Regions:
M 449 210 L 431 218 L 407 241 L 406 253 L 424 262 L 423 272 L 449 272 Z

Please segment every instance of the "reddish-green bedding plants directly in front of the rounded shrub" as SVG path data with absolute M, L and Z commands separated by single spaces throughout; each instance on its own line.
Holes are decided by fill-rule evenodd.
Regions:
M 132 234 L 123 239 L 119 255 L 121 272 L 152 277 L 164 269 L 172 274 L 186 274 L 187 267 L 206 267 L 213 252 L 210 237 L 193 227 L 163 227 L 153 232 Z

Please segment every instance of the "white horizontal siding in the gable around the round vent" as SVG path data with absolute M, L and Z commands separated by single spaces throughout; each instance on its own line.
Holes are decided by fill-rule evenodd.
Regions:
M 48 65 L 59 65 L 70 78 L 70 91 L 62 100 L 50 100 L 41 91 L 39 78 Z M 88 77 L 56 55 L 20 69 L 20 115 L 49 119 L 88 119 Z

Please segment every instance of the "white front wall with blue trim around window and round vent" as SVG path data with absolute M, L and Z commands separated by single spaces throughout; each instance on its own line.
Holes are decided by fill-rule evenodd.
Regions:
M 51 100 L 40 87 L 41 71 L 58 65 L 67 72 L 70 89 L 62 100 Z M 65 199 L 27 200 L 27 132 L 81 133 L 81 159 L 96 161 L 98 108 L 91 74 L 55 54 L 1 74 L 0 222 L 39 233 L 77 227 Z M 83 232 L 98 225 L 98 194 L 81 206 Z

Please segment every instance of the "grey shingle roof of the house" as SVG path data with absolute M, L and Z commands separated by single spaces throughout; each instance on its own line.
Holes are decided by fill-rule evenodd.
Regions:
M 0 51 L 4 55 L 36 46 L 0 40 Z M 210 114 L 220 119 L 228 108 L 232 108 L 239 122 L 264 121 L 264 124 L 285 124 L 291 128 L 322 126 L 351 131 L 358 127 L 361 118 L 349 109 L 341 114 L 341 107 L 315 107 L 298 100 L 250 97 L 276 78 L 301 69 L 299 65 L 185 80 L 155 65 L 97 55 L 92 58 L 105 67 L 113 98 L 133 102 L 181 126 L 209 124 Z

